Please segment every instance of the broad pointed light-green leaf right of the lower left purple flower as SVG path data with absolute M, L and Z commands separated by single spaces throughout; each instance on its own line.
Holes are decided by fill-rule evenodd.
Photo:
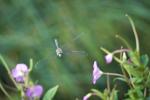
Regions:
M 50 88 L 44 95 L 43 100 L 52 100 L 54 95 L 56 94 L 56 91 L 58 89 L 58 85 L 56 85 L 53 88 Z

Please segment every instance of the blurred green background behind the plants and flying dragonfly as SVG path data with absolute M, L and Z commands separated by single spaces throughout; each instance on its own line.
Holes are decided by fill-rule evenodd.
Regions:
M 119 34 L 135 48 L 125 14 L 135 22 L 142 54 L 150 55 L 149 0 L 0 0 L 0 53 L 10 69 L 17 63 L 29 65 L 33 58 L 33 81 L 45 91 L 60 86 L 54 100 L 81 99 L 91 88 L 106 86 L 105 77 L 92 85 L 94 60 L 103 71 L 120 71 L 115 62 L 105 64 L 101 46 L 110 51 L 124 46 L 115 38 Z M 66 51 L 62 58 L 55 54 L 54 38 Z M 74 50 L 85 53 L 71 53 Z M 11 86 L 2 64 L 0 72 L 2 83 Z

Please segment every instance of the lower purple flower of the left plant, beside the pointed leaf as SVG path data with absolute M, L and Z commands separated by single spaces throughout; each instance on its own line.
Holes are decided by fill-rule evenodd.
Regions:
M 29 99 L 40 98 L 42 93 L 43 93 L 43 87 L 41 85 L 35 85 L 35 86 L 27 88 L 26 90 L 26 96 Z

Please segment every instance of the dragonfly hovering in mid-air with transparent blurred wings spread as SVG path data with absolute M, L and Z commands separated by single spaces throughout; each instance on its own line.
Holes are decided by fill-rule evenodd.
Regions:
M 76 41 L 83 35 L 83 33 L 80 33 L 79 35 L 75 36 L 75 38 L 72 39 L 72 41 Z M 42 64 L 44 62 L 48 62 L 51 60 L 58 60 L 57 58 L 64 59 L 64 57 L 68 58 L 69 56 L 74 56 L 77 58 L 87 57 L 88 53 L 84 50 L 70 50 L 67 48 L 69 45 L 69 42 L 62 44 L 58 41 L 58 38 L 51 39 L 52 41 L 49 44 L 49 54 L 46 54 L 46 56 L 39 61 L 37 61 L 36 65 Z M 47 61 L 48 60 L 48 61 Z

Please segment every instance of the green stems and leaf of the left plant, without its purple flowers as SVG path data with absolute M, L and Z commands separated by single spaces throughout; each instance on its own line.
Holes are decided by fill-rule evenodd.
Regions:
M 16 85 L 16 88 L 18 89 L 18 92 L 20 92 L 20 98 L 22 99 L 27 99 L 27 97 L 25 96 L 25 92 L 26 92 L 26 89 L 27 88 L 30 88 L 30 85 L 33 85 L 34 83 L 32 82 L 32 80 L 29 80 L 30 79 L 30 76 L 27 75 L 27 77 L 25 78 L 26 81 L 23 82 L 23 83 L 19 83 L 19 82 L 16 82 L 15 79 L 13 78 L 13 75 L 11 74 L 11 71 L 6 63 L 6 61 L 3 59 L 3 57 L 0 55 L 0 61 L 4 64 L 8 74 L 9 74 L 9 77 L 11 78 L 11 81 L 14 82 L 14 85 Z M 29 72 L 32 71 L 32 68 L 33 68 L 33 59 L 30 59 L 30 68 L 29 68 Z M 29 87 L 27 87 L 29 86 Z M 53 88 L 50 88 L 46 94 L 44 95 L 43 97 L 43 100 L 52 100 L 54 95 L 56 94 L 57 92 L 57 89 L 58 89 L 58 85 L 53 87 Z M 42 88 L 42 86 L 41 86 Z M 4 86 L 1 84 L 1 81 L 0 81 L 0 90 L 2 90 L 2 92 L 7 96 L 7 98 L 9 100 L 14 100 L 14 98 L 16 98 L 15 96 L 14 97 L 11 97 L 11 95 L 9 95 L 9 93 L 6 91 L 6 89 L 4 88 Z M 32 89 L 30 90 L 32 91 Z M 36 92 L 38 92 L 39 90 L 36 89 Z M 31 94 L 32 95 L 32 94 Z M 34 100 L 36 98 L 33 98 Z M 39 99 L 37 97 L 37 99 Z

